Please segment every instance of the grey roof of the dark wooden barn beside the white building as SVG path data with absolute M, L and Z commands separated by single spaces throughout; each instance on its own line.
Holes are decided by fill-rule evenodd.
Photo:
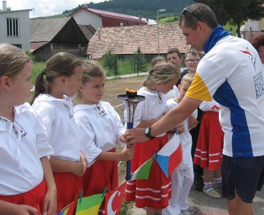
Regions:
M 30 19 L 30 42 L 51 41 L 71 18 Z

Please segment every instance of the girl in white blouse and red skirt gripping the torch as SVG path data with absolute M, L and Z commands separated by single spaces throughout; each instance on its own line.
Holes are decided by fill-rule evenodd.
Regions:
M 105 186 L 112 190 L 118 185 L 117 161 L 128 161 L 133 148 L 127 148 L 125 128 L 118 113 L 108 102 L 102 102 L 106 73 L 94 60 L 83 63 L 82 86 L 74 107 L 78 136 L 88 168 L 83 176 L 85 196 L 102 193 Z M 115 143 L 124 147 L 115 151 Z

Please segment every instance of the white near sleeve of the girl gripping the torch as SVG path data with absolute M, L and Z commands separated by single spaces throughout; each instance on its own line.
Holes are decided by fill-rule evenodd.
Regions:
M 102 149 L 95 145 L 95 134 L 88 122 L 85 125 L 83 123 L 77 123 L 77 133 L 80 141 L 80 150 L 86 158 L 87 167 L 89 167 L 96 161 Z

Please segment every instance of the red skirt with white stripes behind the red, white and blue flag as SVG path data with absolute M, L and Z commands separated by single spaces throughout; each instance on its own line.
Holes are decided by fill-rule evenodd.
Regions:
M 131 170 L 134 172 L 141 164 L 149 160 L 167 142 L 167 134 L 153 140 L 136 143 Z M 132 180 L 127 182 L 126 201 L 135 200 L 137 208 L 151 207 L 154 209 L 166 208 L 171 197 L 171 177 L 167 178 L 154 159 L 149 179 Z

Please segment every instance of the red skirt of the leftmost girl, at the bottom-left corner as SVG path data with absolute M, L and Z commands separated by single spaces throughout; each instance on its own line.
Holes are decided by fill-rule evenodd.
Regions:
M 39 204 L 40 210 L 42 210 L 46 192 L 46 182 L 45 180 L 42 180 L 42 182 L 38 186 L 33 189 L 30 189 L 27 192 L 8 196 L 0 195 L 0 200 L 14 203 L 17 205 L 29 205 L 32 207 L 35 207 L 35 205 Z

